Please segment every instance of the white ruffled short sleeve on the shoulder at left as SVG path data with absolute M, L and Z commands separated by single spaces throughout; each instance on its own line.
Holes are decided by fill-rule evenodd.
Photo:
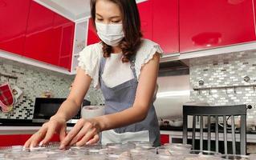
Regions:
M 85 74 L 92 78 L 92 84 L 96 87 L 99 84 L 99 70 L 101 47 L 100 43 L 86 46 L 80 53 L 78 58 L 78 67 L 85 71 Z

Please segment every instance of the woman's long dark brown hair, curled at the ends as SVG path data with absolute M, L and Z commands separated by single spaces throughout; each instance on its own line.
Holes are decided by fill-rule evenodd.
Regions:
M 124 29 L 124 38 L 120 42 L 120 48 L 123 52 L 122 62 L 129 62 L 132 56 L 135 56 L 136 50 L 141 43 L 140 14 L 135 0 L 108 0 L 116 3 L 120 7 Z M 91 18 L 95 26 L 95 4 L 97 0 L 91 0 Z M 102 47 L 104 58 L 110 57 L 112 46 L 103 42 Z

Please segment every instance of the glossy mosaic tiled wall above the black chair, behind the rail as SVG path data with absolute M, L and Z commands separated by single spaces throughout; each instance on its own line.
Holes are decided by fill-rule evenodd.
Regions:
M 190 98 L 209 105 L 250 104 L 248 118 L 256 117 L 256 87 L 230 87 L 227 89 L 193 90 L 197 87 L 256 85 L 256 50 L 194 58 L 190 65 Z M 248 76 L 250 80 L 244 81 Z M 204 85 L 199 85 L 202 80 Z

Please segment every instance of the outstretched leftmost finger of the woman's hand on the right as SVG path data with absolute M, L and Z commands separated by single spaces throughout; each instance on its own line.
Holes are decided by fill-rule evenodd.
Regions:
M 67 146 L 71 142 L 71 140 L 75 138 L 76 134 L 78 134 L 81 128 L 83 128 L 83 124 L 84 124 L 83 119 L 79 119 L 79 121 L 76 122 L 75 126 L 67 134 L 66 138 L 64 138 L 63 141 L 61 142 L 59 149 L 65 148 L 65 146 Z

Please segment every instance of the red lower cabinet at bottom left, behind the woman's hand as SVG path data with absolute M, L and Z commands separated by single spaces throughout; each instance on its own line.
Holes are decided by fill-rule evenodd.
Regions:
M 0 135 L 0 146 L 23 146 L 32 134 Z M 51 142 L 59 142 L 59 134 L 51 138 Z

